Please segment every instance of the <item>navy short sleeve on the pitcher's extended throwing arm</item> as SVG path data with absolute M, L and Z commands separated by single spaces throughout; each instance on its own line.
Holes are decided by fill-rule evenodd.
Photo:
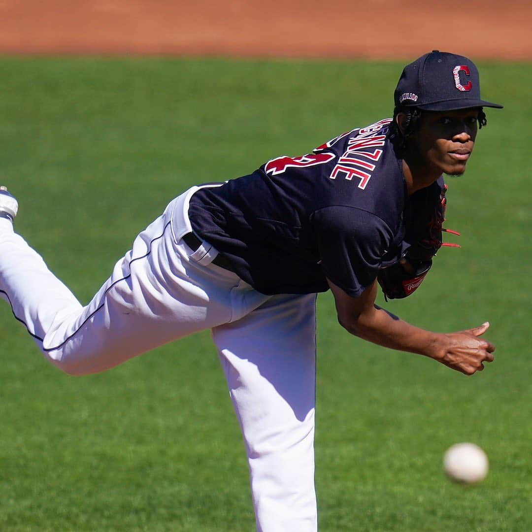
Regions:
M 370 286 L 393 232 L 375 214 L 348 206 L 330 206 L 313 216 L 321 267 L 344 292 L 358 297 Z

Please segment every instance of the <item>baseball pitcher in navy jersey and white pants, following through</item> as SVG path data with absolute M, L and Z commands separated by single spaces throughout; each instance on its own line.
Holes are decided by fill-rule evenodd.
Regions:
M 47 360 L 112 368 L 211 329 L 245 440 L 257 530 L 314 532 L 315 300 L 330 289 L 351 334 L 471 375 L 493 361 L 484 323 L 423 330 L 375 305 L 409 296 L 442 245 L 442 175 L 465 171 L 486 125 L 467 57 L 407 65 L 392 119 L 238 179 L 195 186 L 135 239 L 82 305 L 13 230 L 0 191 L 0 294 Z

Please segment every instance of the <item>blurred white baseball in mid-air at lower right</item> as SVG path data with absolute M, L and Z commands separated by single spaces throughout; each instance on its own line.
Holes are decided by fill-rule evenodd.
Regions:
M 477 483 L 488 474 L 488 457 L 474 443 L 457 443 L 445 452 L 443 469 L 454 482 Z

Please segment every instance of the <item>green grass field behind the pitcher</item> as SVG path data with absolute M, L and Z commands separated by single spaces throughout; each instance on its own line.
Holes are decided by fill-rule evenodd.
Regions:
M 449 181 L 447 227 L 462 232 L 462 248 L 444 248 L 412 297 L 385 306 L 433 330 L 489 320 L 496 361 L 468 378 L 366 344 L 320 295 L 322 531 L 532 530 L 532 66 L 479 66 L 483 96 L 505 109 L 488 111 L 468 172 Z M 19 199 L 16 227 L 88 302 L 172 197 L 389 116 L 401 69 L 3 58 L 2 183 Z M 254 529 L 244 447 L 208 332 L 68 377 L 3 304 L 0 365 L 1 530 Z M 461 441 L 488 453 L 479 486 L 443 475 L 443 452 Z

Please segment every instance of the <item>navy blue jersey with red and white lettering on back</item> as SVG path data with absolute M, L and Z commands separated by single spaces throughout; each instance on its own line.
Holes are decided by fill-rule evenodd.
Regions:
M 189 207 L 194 232 L 264 294 L 323 292 L 329 278 L 359 296 L 402 252 L 408 195 L 389 122 L 200 189 Z

